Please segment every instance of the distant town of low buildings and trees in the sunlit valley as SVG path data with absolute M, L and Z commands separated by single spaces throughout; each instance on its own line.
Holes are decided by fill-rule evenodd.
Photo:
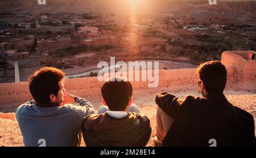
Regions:
M 197 14 L 144 15 L 132 19 L 113 13 L 20 11 L 1 13 L 0 49 L 0 82 L 15 82 L 15 61 L 22 74 L 20 81 L 26 81 L 31 72 L 42 66 L 77 74 L 96 69 L 99 61 L 109 61 L 110 56 L 123 61 L 200 64 L 219 60 L 227 50 L 256 51 L 256 24 Z

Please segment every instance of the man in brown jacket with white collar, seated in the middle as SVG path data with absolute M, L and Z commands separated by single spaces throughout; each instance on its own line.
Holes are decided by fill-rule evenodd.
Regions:
M 98 115 L 81 122 L 88 147 L 145 146 L 150 139 L 150 120 L 131 104 L 133 87 L 126 78 L 109 78 L 101 87 L 102 102 Z

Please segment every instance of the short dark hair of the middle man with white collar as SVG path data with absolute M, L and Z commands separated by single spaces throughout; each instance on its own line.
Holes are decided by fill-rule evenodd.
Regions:
M 109 110 L 123 111 L 133 94 L 133 86 L 127 78 L 116 76 L 104 82 L 101 87 L 101 94 Z

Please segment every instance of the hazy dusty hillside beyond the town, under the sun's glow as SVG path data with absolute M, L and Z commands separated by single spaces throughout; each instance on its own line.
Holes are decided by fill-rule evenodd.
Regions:
M 131 7 L 130 0 L 46 0 L 47 5 L 38 5 L 37 0 L 2 0 L 2 11 L 28 11 L 45 13 L 57 12 L 87 12 L 127 14 Z M 205 16 L 228 16 L 234 18 L 244 14 L 254 14 L 256 1 L 217 1 L 217 5 L 209 5 L 201 0 L 137 0 L 137 11 L 147 14 L 179 13 L 192 15 L 200 13 Z M 10 10 L 11 9 L 11 10 Z

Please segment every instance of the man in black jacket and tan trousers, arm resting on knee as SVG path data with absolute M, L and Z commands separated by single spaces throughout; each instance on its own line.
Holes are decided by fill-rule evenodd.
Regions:
M 156 94 L 157 134 L 163 146 L 250 146 L 255 145 L 254 118 L 233 106 L 223 94 L 226 68 L 208 61 L 197 69 L 203 98 L 177 98 Z M 167 120 L 164 120 L 166 118 Z

